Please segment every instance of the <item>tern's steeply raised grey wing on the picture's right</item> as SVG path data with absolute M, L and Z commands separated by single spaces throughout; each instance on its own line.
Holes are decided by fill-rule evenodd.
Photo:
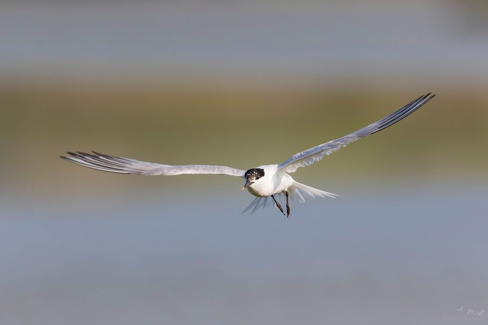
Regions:
M 314 162 L 322 159 L 324 155 L 329 155 L 341 149 L 342 147 L 346 147 L 349 143 L 364 138 L 366 135 L 381 131 L 389 127 L 390 125 L 395 124 L 404 117 L 412 114 L 422 105 L 427 103 L 427 101 L 429 101 L 435 95 L 432 95 L 430 97 L 429 96 L 430 93 L 425 96 L 421 96 L 408 103 L 406 106 L 402 107 L 398 111 L 386 116 L 385 118 L 373 124 L 366 126 L 365 128 L 362 128 L 361 130 L 358 130 L 351 134 L 347 134 L 342 138 L 320 144 L 301 153 L 294 154 L 285 162 L 279 164 L 278 170 L 282 170 L 284 172 L 296 172 L 299 167 L 309 166 Z

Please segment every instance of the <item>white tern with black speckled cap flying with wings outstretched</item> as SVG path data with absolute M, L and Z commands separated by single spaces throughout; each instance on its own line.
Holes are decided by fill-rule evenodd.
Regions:
M 403 108 L 386 116 L 385 118 L 366 126 L 365 128 L 338 138 L 320 144 L 313 148 L 307 149 L 301 153 L 292 155 L 290 158 L 277 165 L 263 165 L 256 168 L 251 168 L 247 171 L 235 169 L 226 166 L 210 166 L 210 165 L 182 165 L 172 166 L 139 161 L 135 159 L 115 157 L 102 153 L 73 153 L 67 152 L 70 157 L 61 156 L 62 159 L 72 163 L 97 169 L 105 172 L 117 172 L 122 174 L 140 174 L 140 175 L 179 175 L 179 174 L 214 174 L 214 175 L 230 175 L 243 177 L 245 184 L 243 187 L 254 196 L 256 199 L 243 211 L 243 213 L 254 207 L 252 212 L 263 207 L 263 209 L 271 204 L 271 197 L 285 215 L 280 203 L 275 196 L 284 195 L 286 197 L 286 216 L 290 215 L 289 195 L 298 196 L 301 202 L 305 202 L 303 194 L 314 198 L 319 197 L 336 197 L 337 194 L 326 191 L 314 189 L 304 184 L 300 184 L 293 180 L 289 173 L 295 172 L 299 167 L 305 167 L 319 161 L 324 155 L 329 155 L 342 147 L 346 147 L 351 142 L 364 138 L 366 135 L 381 131 L 390 125 L 400 121 L 406 116 L 412 114 L 422 105 L 427 103 L 432 97 L 430 93 L 425 96 L 411 101 Z M 302 194 L 303 192 L 303 194 Z M 252 213 L 251 212 L 251 213 Z

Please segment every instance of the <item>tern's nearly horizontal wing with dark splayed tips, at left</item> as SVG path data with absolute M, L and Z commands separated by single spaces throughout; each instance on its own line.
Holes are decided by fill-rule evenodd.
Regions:
M 123 157 L 114 157 L 102 153 L 72 153 L 68 152 L 70 157 L 61 156 L 62 159 L 69 162 L 97 169 L 105 172 L 118 172 L 121 174 L 139 174 L 139 175 L 180 175 L 180 174 L 214 174 L 230 175 L 244 177 L 243 170 L 227 166 L 210 166 L 210 165 L 182 165 L 172 166 L 155 164 L 136 159 Z

